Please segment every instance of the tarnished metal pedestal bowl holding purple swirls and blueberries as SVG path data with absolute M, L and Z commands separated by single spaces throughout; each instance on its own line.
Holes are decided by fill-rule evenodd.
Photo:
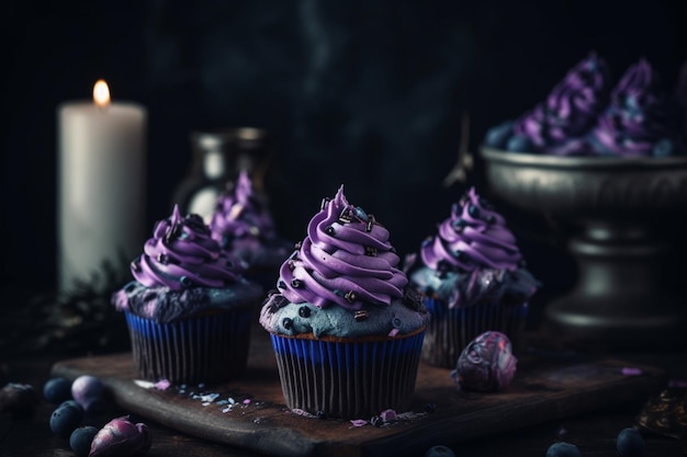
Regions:
M 687 281 L 678 290 L 664 266 L 687 210 L 687 158 L 481 155 L 496 198 L 575 227 L 576 284 L 547 305 L 547 330 L 618 349 L 684 347 Z

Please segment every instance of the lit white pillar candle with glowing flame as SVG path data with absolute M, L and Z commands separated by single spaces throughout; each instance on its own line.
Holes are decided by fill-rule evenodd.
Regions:
M 58 288 L 102 277 L 139 253 L 145 225 L 146 110 L 111 102 L 104 81 L 93 101 L 58 106 Z M 102 284 L 93 284 L 102 286 Z

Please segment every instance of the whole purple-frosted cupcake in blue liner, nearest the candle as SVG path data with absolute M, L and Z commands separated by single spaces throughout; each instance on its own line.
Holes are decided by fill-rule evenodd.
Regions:
M 214 384 L 243 374 L 262 288 L 241 276 L 199 215 L 174 206 L 131 271 L 135 281 L 112 302 L 126 317 L 139 377 Z

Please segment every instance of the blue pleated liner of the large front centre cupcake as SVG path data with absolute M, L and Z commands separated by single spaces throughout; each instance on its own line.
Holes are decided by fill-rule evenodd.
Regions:
M 333 342 L 271 334 L 286 407 L 340 419 L 407 411 L 424 336 Z

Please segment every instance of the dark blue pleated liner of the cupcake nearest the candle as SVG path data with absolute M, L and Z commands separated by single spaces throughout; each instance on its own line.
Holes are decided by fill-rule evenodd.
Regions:
M 157 323 L 125 312 L 139 377 L 172 384 L 214 384 L 246 369 L 251 310 Z

